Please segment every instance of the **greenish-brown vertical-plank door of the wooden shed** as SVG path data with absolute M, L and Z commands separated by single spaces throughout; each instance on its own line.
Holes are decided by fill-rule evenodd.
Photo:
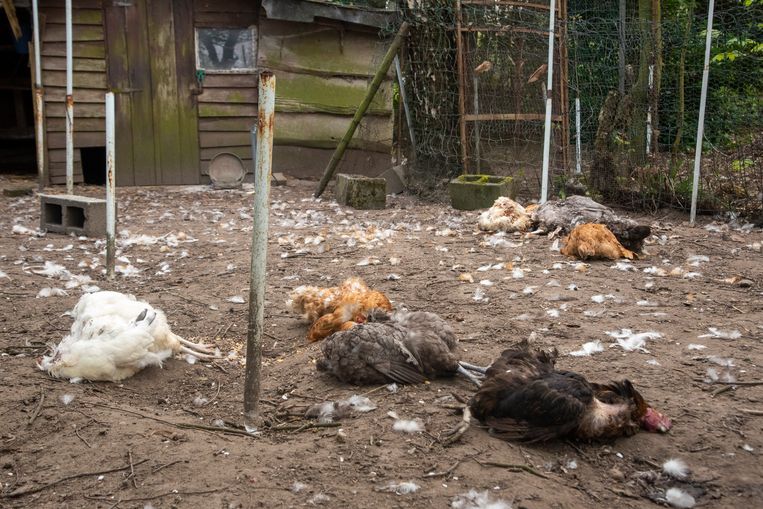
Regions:
M 117 184 L 197 184 L 193 1 L 105 4 Z

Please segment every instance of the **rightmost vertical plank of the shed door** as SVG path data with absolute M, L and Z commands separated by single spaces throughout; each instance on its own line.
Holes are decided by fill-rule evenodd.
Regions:
M 196 50 L 192 0 L 173 3 L 175 26 L 175 60 L 177 62 L 178 133 L 180 137 L 180 179 L 183 184 L 198 184 L 199 117 L 196 98 Z

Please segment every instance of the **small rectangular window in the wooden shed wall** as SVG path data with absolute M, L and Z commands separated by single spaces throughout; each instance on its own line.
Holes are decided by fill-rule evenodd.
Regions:
M 196 67 L 207 72 L 255 70 L 253 28 L 197 28 Z

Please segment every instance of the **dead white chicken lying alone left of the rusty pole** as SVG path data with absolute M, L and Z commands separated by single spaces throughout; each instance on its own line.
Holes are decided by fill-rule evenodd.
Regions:
M 147 366 L 160 366 L 175 353 L 201 359 L 219 356 L 212 347 L 174 334 L 167 317 L 147 302 L 119 292 L 83 295 L 66 314 L 70 333 L 39 360 L 57 378 L 118 381 Z

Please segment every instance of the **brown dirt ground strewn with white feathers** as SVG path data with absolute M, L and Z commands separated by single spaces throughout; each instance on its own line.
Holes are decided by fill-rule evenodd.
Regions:
M 356 211 L 330 192 L 312 199 L 314 186 L 290 181 L 271 193 L 265 424 L 256 435 L 242 430 L 251 187 L 120 189 L 114 281 L 104 276 L 102 240 L 38 235 L 37 198 L 0 197 L 0 506 L 636 508 L 666 505 L 672 487 L 697 507 L 760 506 L 760 229 L 707 217 L 690 228 L 685 215 L 661 212 L 640 218 L 654 232 L 643 259 L 579 264 L 546 237 L 477 231 L 476 212 L 411 197 Z M 45 262 L 66 272 L 37 274 Z M 298 285 L 349 276 L 397 307 L 446 318 L 473 363 L 534 332 L 538 346 L 559 349 L 565 369 L 633 381 L 674 428 L 528 445 L 473 422 L 446 446 L 443 434 L 460 420 L 453 394 L 468 398 L 468 383 L 395 391 L 316 372 L 320 345 L 307 344 L 307 325 L 285 301 Z M 171 359 L 120 383 L 51 378 L 35 358 L 67 333 L 62 314 L 95 286 L 147 300 L 175 332 L 215 343 L 225 358 Z M 66 294 L 42 297 L 45 288 Z M 659 337 L 626 351 L 607 334 L 622 329 Z M 570 355 L 594 341 L 602 351 Z M 321 427 L 302 417 L 354 394 L 376 409 Z M 388 412 L 425 431 L 394 431 Z M 669 458 L 690 475 L 660 474 Z M 412 485 L 400 483 L 417 488 L 403 493 Z

